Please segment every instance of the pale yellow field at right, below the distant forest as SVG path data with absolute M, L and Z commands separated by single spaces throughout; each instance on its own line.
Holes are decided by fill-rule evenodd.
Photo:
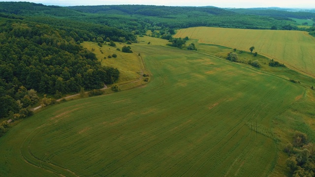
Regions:
M 180 29 L 174 37 L 199 39 L 200 43 L 216 44 L 253 52 L 276 59 L 299 72 L 315 76 L 315 37 L 306 31 L 224 29 L 196 27 Z

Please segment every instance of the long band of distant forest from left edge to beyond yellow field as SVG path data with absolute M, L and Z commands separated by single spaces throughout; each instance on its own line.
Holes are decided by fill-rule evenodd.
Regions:
M 174 7 L 155 5 L 99 5 L 99 6 L 46 6 L 30 2 L 0 2 L 0 13 L 23 16 L 25 20 L 54 23 L 69 26 L 67 23 L 105 25 L 123 29 L 133 34 L 145 33 L 146 30 L 163 28 L 180 29 L 189 27 L 222 27 L 238 29 L 285 29 L 295 26 L 291 19 L 244 15 L 218 7 Z M 56 21 L 57 20 L 57 21 Z M 65 25 L 66 24 L 66 25 Z M 72 24 L 70 26 L 73 26 Z M 76 27 L 77 29 L 79 27 Z M 97 27 L 98 28 L 98 27 Z M 91 29 L 90 32 L 96 29 Z

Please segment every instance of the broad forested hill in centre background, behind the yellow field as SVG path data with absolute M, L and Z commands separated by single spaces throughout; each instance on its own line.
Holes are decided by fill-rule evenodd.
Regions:
M 133 25 L 137 26 L 136 30 L 139 29 L 138 27 L 154 30 L 158 29 L 157 27 L 179 29 L 200 26 L 239 29 L 271 29 L 272 26 L 276 26 L 282 29 L 286 25 L 293 24 L 291 19 L 244 15 L 212 6 L 97 5 L 68 8 L 78 12 L 92 13 L 95 16 L 104 16 L 106 19 L 97 19 L 94 16 L 91 20 L 110 26 L 115 26 L 112 18 L 120 21 L 126 19 L 126 24 L 132 21 Z M 125 25 L 123 28 L 128 29 Z

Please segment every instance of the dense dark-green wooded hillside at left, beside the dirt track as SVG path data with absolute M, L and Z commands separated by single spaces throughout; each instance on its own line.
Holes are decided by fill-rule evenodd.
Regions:
M 37 93 L 58 97 L 118 79 L 116 68 L 101 66 L 95 54 L 80 46 L 90 37 L 95 40 L 97 32 L 10 17 L 0 17 L 0 118 L 28 116 L 39 101 Z

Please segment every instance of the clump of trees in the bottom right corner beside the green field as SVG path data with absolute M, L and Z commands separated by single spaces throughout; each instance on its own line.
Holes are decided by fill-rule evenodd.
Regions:
M 305 133 L 296 131 L 292 143 L 288 143 L 284 151 L 289 155 L 286 166 L 292 177 L 315 176 L 315 145 L 308 141 Z

